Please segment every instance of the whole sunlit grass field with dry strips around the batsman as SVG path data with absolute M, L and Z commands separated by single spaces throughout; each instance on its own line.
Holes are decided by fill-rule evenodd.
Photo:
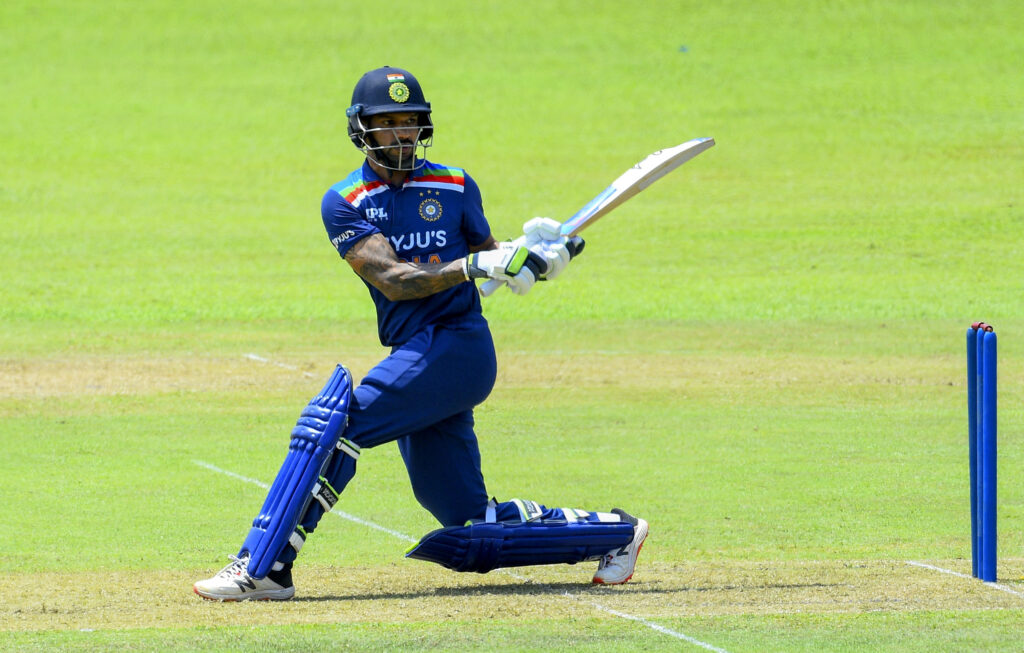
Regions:
M 1021 34 L 998 0 L 0 4 L 0 649 L 1020 650 Z M 403 559 L 435 524 L 387 445 L 296 600 L 191 594 L 334 365 L 385 353 L 318 214 L 383 64 L 499 237 L 716 138 L 485 300 L 488 490 L 645 516 L 626 585 Z M 994 585 L 966 577 L 976 319 Z

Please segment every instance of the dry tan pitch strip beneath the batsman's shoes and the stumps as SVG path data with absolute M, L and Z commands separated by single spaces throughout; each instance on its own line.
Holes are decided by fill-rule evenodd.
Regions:
M 590 585 L 589 564 L 479 575 L 402 561 L 299 567 L 294 600 L 236 604 L 191 593 L 210 571 L 0 574 L 0 630 L 1024 609 L 1024 560 L 1001 562 L 1018 579 L 1002 591 L 900 561 L 651 563 L 616 587 Z

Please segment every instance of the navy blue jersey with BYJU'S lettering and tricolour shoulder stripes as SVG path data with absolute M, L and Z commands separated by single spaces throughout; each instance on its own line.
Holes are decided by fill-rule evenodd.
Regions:
M 361 238 L 381 233 L 406 261 L 444 263 L 466 256 L 471 246 L 490 235 L 476 182 L 463 170 L 428 161 L 401 186 L 389 185 L 364 163 L 331 186 L 321 214 L 342 257 Z M 386 346 L 400 345 L 428 324 L 480 312 L 479 293 L 471 281 L 398 302 L 364 282 L 377 306 L 377 331 Z

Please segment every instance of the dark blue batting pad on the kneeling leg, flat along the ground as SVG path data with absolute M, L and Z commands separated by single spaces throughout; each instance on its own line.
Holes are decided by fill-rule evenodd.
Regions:
M 406 557 L 486 573 L 499 567 L 596 560 L 632 539 L 633 525 L 627 522 L 476 522 L 429 532 Z

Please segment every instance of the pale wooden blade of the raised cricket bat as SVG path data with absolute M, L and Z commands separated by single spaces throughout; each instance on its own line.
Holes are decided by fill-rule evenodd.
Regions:
M 573 236 L 630 198 L 715 144 L 714 138 L 694 138 L 659 149 L 624 172 L 596 198 L 562 222 L 562 235 Z

